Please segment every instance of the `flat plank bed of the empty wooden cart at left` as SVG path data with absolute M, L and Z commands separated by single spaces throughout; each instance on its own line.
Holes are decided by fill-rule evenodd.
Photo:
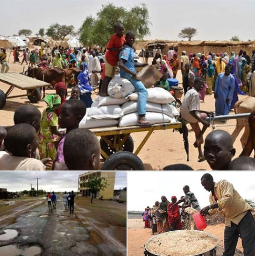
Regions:
M 29 78 L 27 76 L 14 72 L 1 73 L 0 81 L 9 85 L 13 85 L 14 87 L 17 87 L 21 90 L 35 89 L 50 85 L 49 83 L 43 82 L 41 80 Z

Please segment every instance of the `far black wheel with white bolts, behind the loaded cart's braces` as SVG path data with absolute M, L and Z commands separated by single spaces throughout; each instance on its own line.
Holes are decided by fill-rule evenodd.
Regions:
M 122 140 L 124 138 L 124 136 L 125 136 L 124 134 L 120 135 L 120 140 Z M 106 136 L 106 137 L 110 142 L 113 142 L 113 140 L 114 140 L 113 135 L 109 135 L 109 136 Z M 112 155 L 113 153 L 116 152 L 116 149 L 110 147 L 110 145 L 108 145 L 108 143 L 106 141 L 104 141 L 104 139 L 102 139 L 102 138 L 100 139 L 100 146 L 101 146 L 101 149 L 103 149 L 103 151 L 105 151 L 108 156 L 110 156 L 110 155 Z M 133 150 L 134 150 L 134 141 L 133 141 L 133 139 L 130 135 L 127 137 L 126 142 L 123 144 L 122 150 L 131 152 L 131 153 L 133 152 Z M 102 156 L 102 157 L 103 157 L 104 160 L 106 160 L 106 158 L 104 156 Z

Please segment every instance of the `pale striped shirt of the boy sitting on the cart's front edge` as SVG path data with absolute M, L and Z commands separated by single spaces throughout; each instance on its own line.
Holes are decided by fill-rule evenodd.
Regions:
M 182 118 L 189 123 L 197 123 L 198 120 L 190 114 L 190 111 L 194 110 L 200 110 L 200 101 L 198 91 L 192 87 L 184 96 L 181 106 Z

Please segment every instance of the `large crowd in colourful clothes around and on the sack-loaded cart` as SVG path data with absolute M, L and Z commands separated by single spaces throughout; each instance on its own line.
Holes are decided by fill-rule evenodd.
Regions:
M 148 90 L 137 77 L 136 71 L 137 67 L 144 67 L 148 63 L 135 61 L 134 32 L 128 31 L 125 35 L 121 23 L 114 24 L 114 31 L 115 34 L 110 38 L 106 51 L 103 51 L 102 48 L 100 50 L 91 48 L 72 50 L 60 46 L 51 50 L 49 46 L 45 45 L 31 53 L 28 49 L 23 50 L 21 64 L 24 61 L 28 63 L 29 60 L 30 66 L 39 65 L 45 69 L 79 67 L 80 73 L 77 79 L 78 83 L 74 83 L 72 86 L 70 97 L 67 97 L 67 85 L 64 82 L 58 82 L 56 93 L 48 94 L 43 99 L 46 108 L 42 114 L 36 107 L 24 105 L 15 111 L 14 126 L 0 128 L 0 143 L 2 143 L 0 170 L 44 170 L 45 168 L 47 170 L 85 170 L 86 168 L 88 168 L 86 170 L 97 170 L 100 157 L 99 142 L 90 131 L 79 130 L 78 126 L 86 114 L 86 108 L 92 105 L 93 85 L 99 84 L 99 96 L 107 96 L 108 84 L 114 77 L 117 67 L 120 69 L 120 77 L 128 79 L 138 92 L 137 125 L 149 127 L 154 124 L 146 119 Z M 104 52 L 105 63 L 104 59 L 99 57 Z M 17 47 L 14 48 L 13 54 L 14 63 L 19 62 Z M 5 49 L 1 49 L 0 57 L 2 67 L 8 68 Z M 163 55 L 163 57 L 161 57 L 161 50 L 155 49 L 152 64 L 155 64 L 162 73 L 162 77 L 155 86 L 160 86 L 165 89 L 166 93 L 169 93 L 170 85 L 167 78 L 176 77 L 179 67 L 177 48 L 171 47 L 167 55 Z M 190 123 L 195 132 L 194 146 L 198 148 L 198 162 L 207 160 L 209 165 L 214 168 L 213 170 L 229 168 L 231 157 L 234 156 L 230 135 L 220 133 L 229 139 L 229 142 L 222 146 L 228 146 L 226 152 L 232 152 L 229 155 L 231 157 L 225 161 L 226 163 L 221 162 L 221 166 L 215 167 L 210 164 L 212 162 L 209 159 L 209 156 L 212 158 L 211 153 L 206 156 L 208 154 L 202 150 L 203 134 L 210 126 L 210 122 L 205 119 L 213 118 L 215 114 L 228 114 L 238 100 L 237 93 L 247 92 L 245 88 L 249 86 L 250 70 L 254 71 L 255 51 L 251 57 L 242 50 L 238 56 L 232 52 L 230 57 L 227 53 L 209 53 L 207 57 L 198 53 L 190 54 L 188 57 L 183 51 L 180 64 L 183 75 L 184 100 L 179 120 Z M 200 110 L 200 100 L 205 99 L 205 92 L 211 94 L 213 91 L 215 114 Z M 203 124 L 202 129 L 198 122 Z M 66 132 L 59 128 L 66 129 Z M 80 139 L 82 136 L 84 138 Z M 4 142 L 2 142 L 3 139 Z M 217 139 L 217 136 L 213 136 L 213 139 Z M 209 139 L 205 142 L 207 142 L 205 143 L 206 151 Z M 16 147 L 17 143 L 19 147 Z M 84 157 L 84 149 L 87 149 L 88 145 L 90 147 L 86 150 L 87 155 Z

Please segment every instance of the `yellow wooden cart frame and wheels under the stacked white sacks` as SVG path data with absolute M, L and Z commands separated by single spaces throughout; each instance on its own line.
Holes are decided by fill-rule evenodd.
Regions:
M 148 139 L 149 139 L 150 135 L 153 133 L 153 131 L 166 130 L 166 129 L 178 129 L 181 127 L 182 127 L 182 124 L 177 121 L 174 123 L 155 124 L 151 127 L 140 127 L 140 126 L 117 127 L 117 126 L 114 126 L 114 127 L 91 128 L 90 130 L 95 135 L 101 137 L 100 138 L 101 156 L 104 158 L 104 160 L 107 161 L 109 156 L 113 157 L 114 155 L 116 155 L 115 158 L 117 159 L 117 161 L 116 161 L 116 159 L 112 159 L 113 160 L 112 162 L 116 162 L 116 164 L 113 164 L 114 167 L 111 167 L 111 168 L 113 168 L 112 170 L 136 170 L 133 166 L 132 161 L 133 160 L 135 161 L 135 157 L 139 154 L 139 152 L 141 151 L 141 149 L 143 148 L 145 143 L 148 141 Z M 147 134 L 145 135 L 142 142 L 139 144 L 139 146 L 135 150 L 135 153 L 132 154 L 133 156 L 134 155 L 135 156 L 132 157 L 131 153 L 133 153 L 133 150 L 134 150 L 134 142 L 133 142 L 133 139 L 130 134 L 135 133 L 135 132 L 147 132 Z M 129 153 L 129 156 L 127 156 L 127 158 L 124 159 L 125 158 L 124 154 L 115 153 L 117 151 L 129 151 L 131 153 Z M 113 155 L 113 153 L 115 153 L 115 154 Z M 122 156 L 123 156 L 123 159 L 121 160 Z M 109 158 L 109 160 L 110 160 L 110 158 Z M 104 164 L 106 164 L 106 161 Z M 111 166 L 113 166 L 113 165 L 111 165 Z M 120 168 L 122 168 L 122 169 L 120 169 Z

